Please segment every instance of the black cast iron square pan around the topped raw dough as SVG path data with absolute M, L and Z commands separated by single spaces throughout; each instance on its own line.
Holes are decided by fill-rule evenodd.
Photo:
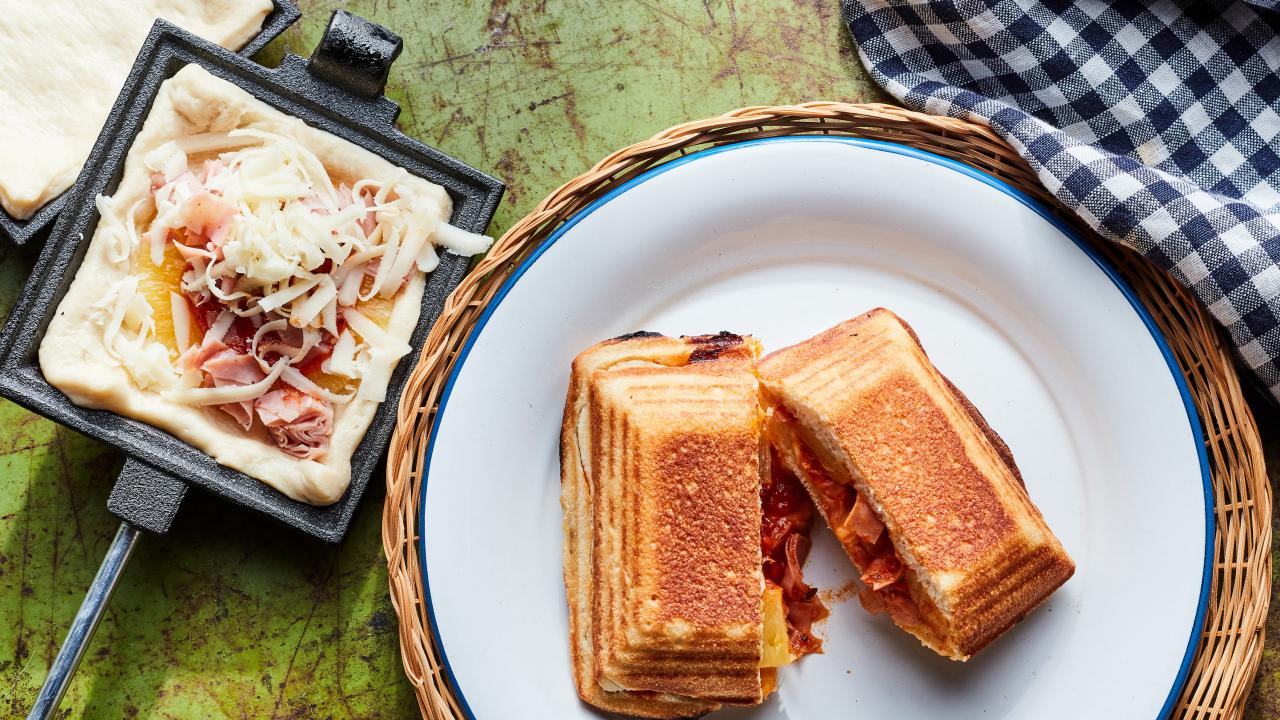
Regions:
M 399 50 L 399 37 L 342 10 L 334 13 L 310 61 L 287 55 L 274 70 L 169 23 L 157 22 L 152 28 L 84 172 L 68 192 L 63 214 L 31 279 L 0 332 L 0 395 L 123 450 L 128 461 L 113 489 L 109 507 L 134 527 L 166 530 L 187 484 L 195 484 L 311 536 L 330 542 L 342 539 L 387 447 L 399 393 L 415 364 L 416 352 L 401 359 L 387 391 L 388 400 L 378 409 L 367 434 L 356 448 L 347 493 L 326 507 L 291 500 L 146 423 L 78 407 L 45 380 L 36 354 L 97 227 L 93 199 L 100 193 L 111 195 L 119 184 L 124 158 L 160 83 L 188 63 L 197 63 L 285 114 L 444 186 L 453 199 L 449 222 L 463 229 L 484 232 L 502 197 L 503 184 L 396 129 L 399 106 L 384 97 L 381 91 Z M 445 297 L 461 282 L 468 264 L 466 258 L 442 254 L 439 268 L 428 277 L 412 347 L 421 348 Z

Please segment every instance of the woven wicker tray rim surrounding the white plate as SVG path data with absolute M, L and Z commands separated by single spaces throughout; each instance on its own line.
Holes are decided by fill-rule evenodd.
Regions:
M 419 495 L 426 443 L 457 351 L 485 305 L 525 256 L 557 227 L 612 187 L 654 165 L 717 145 L 786 135 L 832 135 L 900 142 L 959 160 L 1059 209 L 1030 168 L 983 126 L 891 105 L 809 102 L 744 108 L 676 126 L 613 152 L 564 183 L 516 223 L 445 302 L 404 388 L 387 462 L 383 546 L 390 597 L 399 615 L 401 656 L 424 717 L 461 719 L 434 647 L 419 568 Z M 1115 263 L 1134 287 L 1187 377 L 1213 479 L 1217 537 L 1208 614 L 1175 717 L 1239 717 L 1262 659 L 1271 592 L 1271 487 L 1253 415 L 1217 327 L 1180 286 L 1135 255 L 1117 250 L 1059 214 Z

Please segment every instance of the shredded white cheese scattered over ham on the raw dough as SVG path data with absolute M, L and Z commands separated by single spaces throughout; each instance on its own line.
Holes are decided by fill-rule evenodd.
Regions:
M 404 170 L 348 187 L 287 135 L 255 128 L 204 133 L 166 142 L 143 163 L 156 183 L 145 247 L 160 265 L 165 245 L 173 242 L 187 263 L 180 283 L 187 297 L 170 296 L 179 357 L 195 357 L 193 347 L 223 340 L 236 318 L 248 318 L 256 331 L 251 352 L 264 372 L 270 370 L 262 382 L 234 388 L 189 387 L 193 380 L 184 374 L 182 387 L 170 393 L 182 402 L 253 400 L 270 389 L 268 379 L 332 402 L 347 401 L 349 396 L 326 391 L 292 366 L 321 342 L 333 346 L 324 372 L 358 380 L 356 397 L 381 401 L 392 369 L 410 347 L 361 314 L 360 304 L 393 299 L 413 273 L 434 270 L 439 247 L 475 255 L 493 242 L 444 222 L 436 199 L 410 182 Z M 110 200 L 99 202 L 106 217 Z M 113 258 L 132 252 L 137 209 L 119 233 L 123 240 L 111 245 Z M 104 305 L 108 346 L 119 346 L 114 352 L 122 363 L 127 354 L 129 363 L 137 361 L 138 352 L 120 348 L 141 347 L 148 333 L 154 336 L 154 325 L 146 325 L 150 307 L 137 307 L 146 300 L 136 287 L 133 295 L 122 288 L 113 297 L 109 307 Z M 187 299 L 201 307 L 214 301 L 221 306 L 204 338 L 193 337 L 197 318 Z M 128 316 L 138 329 L 118 341 L 125 337 Z M 275 333 L 273 338 L 293 333 L 293 340 L 264 341 L 269 333 Z

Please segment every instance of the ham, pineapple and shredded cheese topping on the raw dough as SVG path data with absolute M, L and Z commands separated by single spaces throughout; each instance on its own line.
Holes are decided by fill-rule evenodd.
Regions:
M 410 351 L 385 323 L 410 278 L 439 264 L 436 247 L 474 255 L 492 242 L 447 224 L 403 170 L 337 179 L 270 132 L 170 141 L 145 164 L 150 202 L 110 249 L 142 279 L 100 302 L 105 346 L 141 387 L 261 427 L 300 459 L 326 454 L 335 406 L 385 398 Z

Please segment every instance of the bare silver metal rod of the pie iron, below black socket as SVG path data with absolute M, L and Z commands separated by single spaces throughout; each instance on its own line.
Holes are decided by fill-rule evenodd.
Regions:
M 102 566 L 97 569 L 93 584 L 88 587 L 84 602 L 81 602 L 81 609 L 76 612 L 76 619 L 72 620 L 72 629 L 67 632 L 67 639 L 63 641 L 63 647 L 58 651 L 58 657 L 54 659 L 54 666 L 49 669 L 49 676 L 45 678 L 45 684 L 40 688 L 36 705 L 32 706 L 27 720 L 47 720 L 58 712 L 58 703 L 67 693 L 67 685 L 70 684 L 72 675 L 76 674 L 76 666 L 79 665 L 79 659 L 84 656 L 88 642 L 93 638 L 93 630 L 97 629 L 102 611 L 106 610 L 106 603 L 111 600 L 116 583 L 120 582 L 124 564 L 129 561 L 138 536 L 140 532 L 136 528 L 128 523 L 120 523 L 120 529 L 115 532 L 115 539 L 111 541 L 111 547 L 108 548 L 106 557 L 102 559 Z

